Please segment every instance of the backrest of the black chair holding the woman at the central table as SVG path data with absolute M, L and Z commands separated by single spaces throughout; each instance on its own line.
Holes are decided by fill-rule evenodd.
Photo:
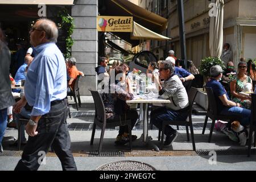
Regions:
M 90 93 L 92 93 L 92 96 L 93 96 L 93 101 L 94 101 L 95 110 L 96 110 L 95 115 L 97 119 L 100 122 L 106 121 L 105 106 L 100 93 L 98 93 L 98 91 L 93 91 L 93 90 L 90 90 Z

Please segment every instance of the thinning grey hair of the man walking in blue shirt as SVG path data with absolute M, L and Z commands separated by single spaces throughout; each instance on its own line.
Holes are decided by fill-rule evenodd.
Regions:
M 46 39 L 50 42 L 57 42 L 57 38 L 59 36 L 59 30 L 56 26 L 56 23 L 50 19 L 42 18 L 38 19 L 37 22 L 40 21 L 38 28 L 44 30 L 46 32 Z

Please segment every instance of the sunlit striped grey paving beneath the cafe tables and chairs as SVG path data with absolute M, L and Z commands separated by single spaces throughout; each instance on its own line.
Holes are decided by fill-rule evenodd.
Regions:
M 68 97 L 69 99 L 69 106 L 71 111 L 71 118 L 68 117 L 67 119 L 67 126 L 69 133 L 71 135 L 71 142 L 72 142 L 72 151 L 77 152 L 77 154 L 98 154 L 98 148 L 100 143 L 100 137 L 101 137 L 101 129 L 100 127 L 96 126 L 96 131 L 94 134 L 94 142 L 91 144 L 90 140 L 92 138 L 92 131 L 93 131 L 93 123 L 94 123 L 94 117 L 96 114 L 95 105 L 93 98 L 90 96 L 81 96 L 81 107 L 79 107 L 79 110 L 77 110 L 76 103 L 74 99 Z M 143 101 L 143 99 L 139 99 L 140 101 Z M 255 95 L 252 96 L 253 104 L 252 108 L 255 108 L 255 101 L 256 97 Z M 209 101 L 209 105 L 210 105 Z M 195 102 L 192 106 L 196 106 Z M 150 107 L 150 106 L 148 106 Z M 138 111 L 138 114 L 140 115 L 141 109 L 139 105 L 135 108 Z M 231 152 L 241 155 L 247 155 L 249 154 L 255 154 L 255 143 L 252 143 L 250 146 L 251 149 L 247 150 L 249 147 L 247 144 L 246 146 L 240 146 L 238 142 L 233 142 L 228 138 L 227 135 L 224 133 L 221 133 L 221 131 L 217 131 L 214 128 L 214 124 L 211 119 L 210 113 L 212 110 L 209 107 L 208 110 L 208 119 L 205 119 L 205 115 L 197 115 L 195 113 L 195 110 L 192 107 L 192 114 L 191 114 L 191 121 L 193 126 L 193 136 L 195 139 L 195 147 L 192 144 L 192 138 L 188 137 L 187 135 L 187 127 L 186 126 L 179 126 L 178 136 L 175 140 L 175 142 L 170 147 L 162 148 L 160 147 L 160 135 L 159 130 L 156 129 L 155 126 L 152 127 L 152 130 L 150 128 L 150 117 L 147 119 L 147 130 L 148 130 L 148 140 L 150 140 L 151 144 L 148 144 L 148 140 L 146 141 L 143 136 L 143 131 L 145 125 L 143 125 L 143 120 L 138 118 L 138 121 L 136 125 L 134 126 L 132 130 L 133 135 L 137 135 L 138 138 L 131 144 L 132 150 L 130 150 L 129 143 L 127 143 L 125 146 L 115 146 L 114 141 L 115 137 L 118 134 L 119 126 L 112 126 L 112 127 L 106 127 L 105 133 L 104 133 L 104 139 L 102 142 L 101 152 L 104 154 L 104 152 L 123 152 L 124 154 L 130 154 L 130 155 L 169 155 L 170 152 L 175 151 L 183 151 L 188 152 L 188 154 L 191 154 L 191 152 L 195 152 L 193 154 L 199 154 L 200 152 L 207 152 L 207 151 L 220 151 L 220 152 Z M 148 115 L 150 115 L 150 108 L 148 108 Z M 253 119 L 251 121 L 251 129 L 255 131 L 255 109 L 252 112 Z M 216 118 L 217 119 L 217 118 Z M 229 118 L 228 118 L 229 120 Z M 227 121 L 228 121 L 227 120 Z M 145 123 L 144 123 L 145 124 Z M 174 129 L 177 128 L 176 123 L 172 126 Z M 204 132 L 203 132 L 204 131 Z M 209 134 L 212 131 L 212 138 L 209 140 Z M 202 134 L 202 132 L 204 134 Z M 191 131 L 189 131 L 189 134 L 191 134 Z M 22 152 L 23 146 L 20 148 L 18 147 L 10 147 L 9 144 L 13 142 L 13 139 L 11 137 L 18 138 L 18 130 L 13 128 L 7 128 L 5 139 L 3 142 L 3 146 L 5 147 L 5 152 Z M 27 138 L 26 134 L 26 138 Z M 189 139 L 189 140 L 188 140 Z M 209 143 L 210 142 L 210 143 Z M 159 152 L 155 150 L 154 147 L 157 146 L 161 150 Z M 20 150 L 20 151 L 19 151 Z M 193 151 L 195 150 L 195 151 Z M 5 155 L 5 152 L 1 155 Z

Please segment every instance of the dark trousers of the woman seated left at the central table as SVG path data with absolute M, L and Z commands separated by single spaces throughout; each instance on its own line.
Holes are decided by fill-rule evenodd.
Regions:
M 115 114 L 115 115 L 112 115 L 112 117 L 108 118 L 107 119 L 107 122 L 116 122 L 116 121 L 119 121 L 120 117 L 121 116 L 121 121 L 125 121 L 125 115 L 126 115 L 126 119 L 131 119 L 131 129 L 133 129 L 137 119 L 138 119 L 138 113 L 136 110 L 128 110 L 126 111 L 126 114 Z M 123 133 L 129 133 L 129 130 L 128 130 L 128 126 L 120 126 L 119 127 L 119 133 L 118 133 L 118 136 L 122 135 Z

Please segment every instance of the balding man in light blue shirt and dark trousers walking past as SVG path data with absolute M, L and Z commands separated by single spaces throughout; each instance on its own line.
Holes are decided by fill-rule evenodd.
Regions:
M 63 170 L 77 170 L 71 152 L 67 129 L 67 73 L 65 60 L 56 46 L 58 29 L 49 19 L 39 19 L 30 30 L 30 43 L 36 56 L 28 68 L 25 96 L 14 105 L 14 111 L 26 103 L 33 106 L 26 125 L 29 135 L 22 159 L 15 170 L 37 170 L 42 154 L 52 146 Z

